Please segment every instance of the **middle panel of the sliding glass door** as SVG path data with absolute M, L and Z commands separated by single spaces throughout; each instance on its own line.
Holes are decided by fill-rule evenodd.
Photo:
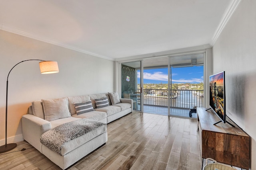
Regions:
M 143 61 L 143 111 L 146 113 L 168 115 L 168 63 L 169 57 Z

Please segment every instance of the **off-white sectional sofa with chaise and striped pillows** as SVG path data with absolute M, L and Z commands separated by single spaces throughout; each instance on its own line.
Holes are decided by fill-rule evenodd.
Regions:
M 104 100 L 106 98 L 107 100 Z M 100 103 L 102 101 L 104 104 Z M 80 108 L 84 108 L 80 105 L 86 106 L 86 109 L 81 109 L 82 112 L 86 113 L 79 112 L 81 111 Z M 29 114 L 22 116 L 23 138 L 60 168 L 66 169 L 93 150 L 104 145 L 108 140 L 106 124 L 131 113 L 132 108 L 132 100 L 119 99 L 116 92 L 37 100 L 32 102 L 32 106 L 29 107 Z M 56 132 L 56 129 L 61 127 L 60 129 L 66 128 L 64 133 L 65 131 L 76 133 L 81 128 L 70 128 L 70 125 L 78 121 L 81 122 L 81 119 L 89 124 L 97 124 L 98 127 L 94 127 L 93 124 L 93 128 L 87 133 L 80 134 L 79 132 L 80 136 L 74 139 L 70 138 L 68 142 L 60 147 L 59 153 L 53 150 L 50 142 L 62 141 L 62 139 L 57 138 L 59 131 Z M 47 141 L 47 135 L 50 136 L 49 138 L 53 138 L 53 141 Z M 60 135 L 62 138 L 62 134 Z M 43 137 L 46 139 L 46 143 L 49 142 L 48 145 L 43 142 Z

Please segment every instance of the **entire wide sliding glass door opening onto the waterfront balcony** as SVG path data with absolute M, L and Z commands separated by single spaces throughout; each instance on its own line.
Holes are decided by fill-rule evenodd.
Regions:
M 204 106 L 204 55 L 122 63 L 122 98 L 133 99 L 134 110 L 189 117 L 190 108 Z

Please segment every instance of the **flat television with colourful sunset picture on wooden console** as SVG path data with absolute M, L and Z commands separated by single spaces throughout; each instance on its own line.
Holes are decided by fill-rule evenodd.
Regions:
M 226 123 L 225 72 L 210 76 L 210 107 Z

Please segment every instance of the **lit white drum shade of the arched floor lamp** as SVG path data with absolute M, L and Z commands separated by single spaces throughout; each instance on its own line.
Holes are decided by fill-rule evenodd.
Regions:
M 42 61 L 39 63 L 41 74 L 52 74 L 59 72 L 58 63 L 56 61 Z

